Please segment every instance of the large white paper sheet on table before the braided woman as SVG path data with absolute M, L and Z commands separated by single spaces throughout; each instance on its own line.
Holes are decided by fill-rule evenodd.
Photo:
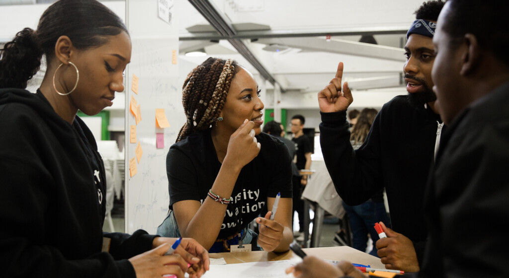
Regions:
M 252 262 L 239 264 L 211 265 L 210 270 L 202 277 L 204 278 L 224 278 L 224 277 L 271 277 L 288 278 L 293 274 L 286 274 L 285 270 L 302 261 L 300 258 L 272 262 Z

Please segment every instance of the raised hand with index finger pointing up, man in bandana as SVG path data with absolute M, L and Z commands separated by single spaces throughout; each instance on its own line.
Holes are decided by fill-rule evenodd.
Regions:
M 343 62 L 340 62 L 337 65 L 336 76 L 318 93 L 320 111 L 324 113 L 346 111 L 348 106 L 352 104 L 352 91 L 348 87 L 348 82 L 343 84 L 343 91 L 341 90 L 342 78 Z

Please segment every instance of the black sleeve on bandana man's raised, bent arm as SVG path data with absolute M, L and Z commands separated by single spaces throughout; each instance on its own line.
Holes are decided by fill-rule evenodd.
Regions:
M 355 151 L 350 143 L 346 112 L 320 114 L 320 146 L 334 187 L 347 204 L 359 205 L 383 188 L 379 163 L 380 113 L 364 144 Z

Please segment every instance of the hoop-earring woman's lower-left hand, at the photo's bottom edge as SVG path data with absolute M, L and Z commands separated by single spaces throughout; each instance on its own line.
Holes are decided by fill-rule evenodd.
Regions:
M 187 271 L 187 263 L 180 255 L 164 256 L 169 249 L 169 244 L 164 243 L 156 249 L 139 254 L 129 259 L 137 278 L 161 277 L 166 274 L 174 274 L 178 278 L 184 278 Z

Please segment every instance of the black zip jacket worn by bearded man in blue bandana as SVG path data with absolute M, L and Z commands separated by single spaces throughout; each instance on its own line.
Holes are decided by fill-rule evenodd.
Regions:
M 376 116 L 362 146 L 350 143 L 346 112 L 321 113 L 320 145 L 337 193 L 349 205 L 385 188 L 394 231 L 414 243 L 419 265 L 428 235 L 423 195 L 434 158 L 439 115 L 398 96 Z

